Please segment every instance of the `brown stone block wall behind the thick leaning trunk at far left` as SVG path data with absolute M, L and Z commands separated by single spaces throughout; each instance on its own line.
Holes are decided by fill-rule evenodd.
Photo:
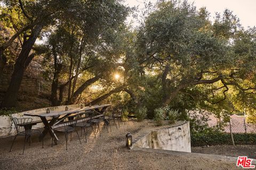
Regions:
M 6 69 L 4 73 L 0 75 L 0 101 L 9 86 L 11 76 L 11 69 Z M 37 96 L 40 92 L 40 80 L 25 74 L 21 81 L 19 92 L 29 96 Z

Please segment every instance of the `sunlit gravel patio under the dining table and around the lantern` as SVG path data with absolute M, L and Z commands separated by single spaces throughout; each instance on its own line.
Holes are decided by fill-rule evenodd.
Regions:
M 127 122 L 126 126 L 116 129 L 111 125 L 111 132 L 102 129 L 86 143 L 84 135 L 82 145 L 73 133 L 72 141 L 65 146 L 65 135 L 58 133 L 58 145 L 51 147 L 50 137 L 42 143 L 33 137 L 31 146 L 26 146 L 22 153 L 23 138 L 18 137 L 12 152 L 9 152 L 13 137 L 0 139 L 0 169 L 236 169 L 234 162 L 215 159 L 172 156 L 167 154 L 135 151 L 125 148 L 125 137 L 131 132 L 133 137 L 143 130 L 154 129 L 149 122 Z M 79 131 L 78 131 L 79 132 Z M 91 131 L 89 131 L 90 133 Z M 70 139 L 70 138 L 69 138 Z

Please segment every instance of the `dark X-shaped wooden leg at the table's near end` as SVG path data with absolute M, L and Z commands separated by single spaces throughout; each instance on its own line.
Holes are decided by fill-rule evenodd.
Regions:
M 52 130 L 52 125 L 53 125 L 55 122 L 58 121 L 58 118 L 59 118 L 59 117 L 53 117 L 52 120 L 51 120 L 50 122 L 48 122 L 45 117 L 41 117 L 41 120 L 42 120 L 42 122 L 44 123 L 44 131 L 42 132 L 42 134 L 41 134 L 40 137 L 39 137 L 39 140 L 40 140 L 40 141 L 41 141 L 41 140 L 45 137 L 45 135 L 49 132 L 50 135 L 51 135 L 51 137 L 52 137 L 53 140 L 54 140 L 54 143 L 57 145 L 59 139 L 58 139 L 57 135 L 54 133 L 54 131 Z

